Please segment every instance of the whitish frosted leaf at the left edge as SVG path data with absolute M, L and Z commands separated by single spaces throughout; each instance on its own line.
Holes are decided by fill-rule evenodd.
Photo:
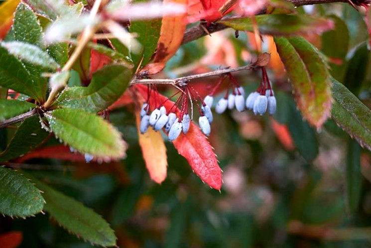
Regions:
M 60 67 L 48 53 L 41 50 L 38 46 L 20 41 L 1 42 L 0 45 L 22 61 L 52 70 L 57 70 Z

